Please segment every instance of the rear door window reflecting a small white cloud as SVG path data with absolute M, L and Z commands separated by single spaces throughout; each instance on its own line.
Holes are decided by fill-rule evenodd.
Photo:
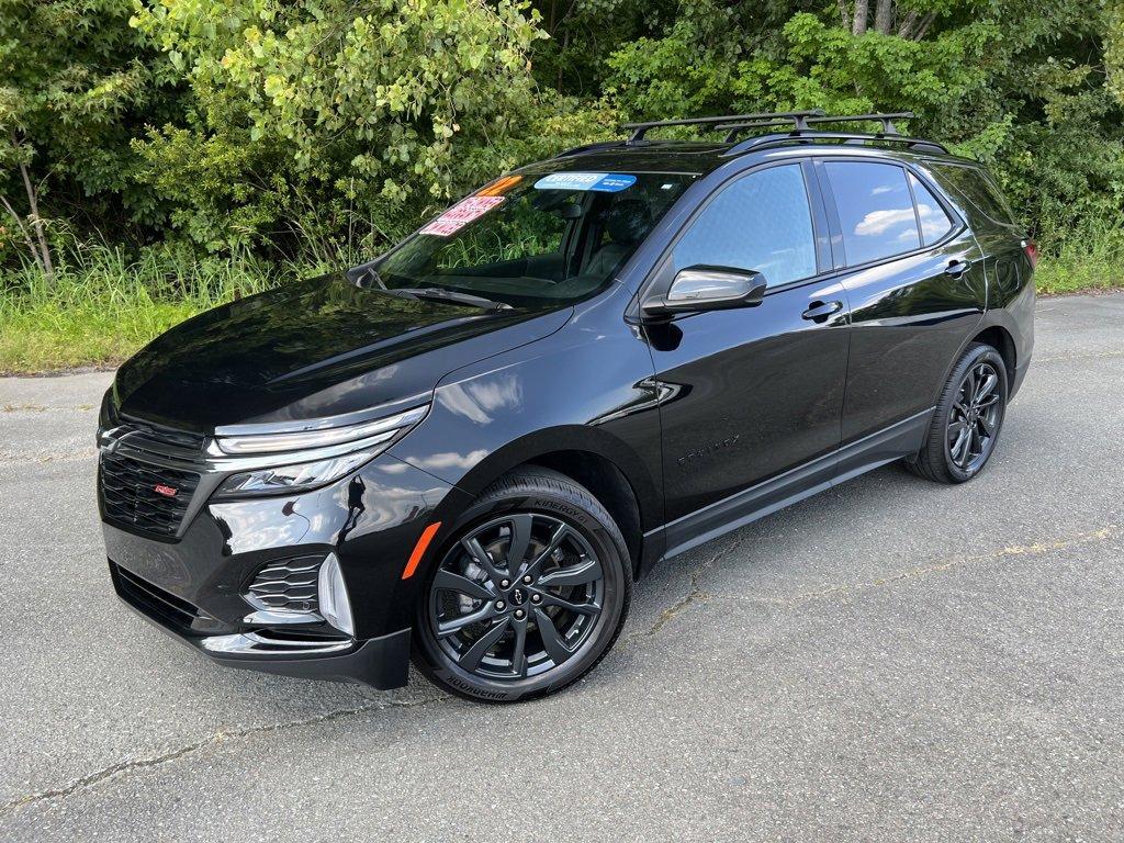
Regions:
M 921 247 L 906 171 L 896 164 L 825 164 L 851 265 Z

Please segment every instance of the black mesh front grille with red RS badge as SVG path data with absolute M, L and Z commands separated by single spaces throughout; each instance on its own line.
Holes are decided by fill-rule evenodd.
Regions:
M 153 536 L 175 536 L 199 474 L 152 465 L 116 453 L 101 455 L 106 519 Z M 156 489 L 173 490 L 174 495 Z

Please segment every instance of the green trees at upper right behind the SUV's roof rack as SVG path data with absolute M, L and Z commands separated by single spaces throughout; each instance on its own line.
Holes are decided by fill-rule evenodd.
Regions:
M 608 57 L 613 101 L 660 117 L 909 110 L 917 119 L 901 128 L 991 165 L 1051 239 L 1124 217 L 1124 114 L 1105 83 L 1106 64 L 1124 55 L 1118 10 L 1082 0 L 798 7 L 683 3 L 662 33 Z

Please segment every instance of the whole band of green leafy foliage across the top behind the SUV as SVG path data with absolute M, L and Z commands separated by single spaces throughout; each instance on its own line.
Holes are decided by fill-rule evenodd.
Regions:
M 795 107 L 915 111 L 1049 254 L 1122 228 L 1122 102 L 1116 1 L 0 0 L 0 264 L 356 260 L 623 119 Z

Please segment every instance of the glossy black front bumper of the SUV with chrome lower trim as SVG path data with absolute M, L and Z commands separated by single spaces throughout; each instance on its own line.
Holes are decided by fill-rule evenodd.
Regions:
M 424 571 L 402 580 L 404 565 L 425 527 L 451 523 L 462 498 L 384 454 L 315 491 L 203 501 L 172 541 L 106 519 L 105 509 L 102 531 L 118 596 L 208 658 L 387 689 L 406 683 L 413 611 L 425 580 Z M 353 635 L 324 622 L 315 606 L 302 622 L 247 601 L 250 584 L 270 563 L 328 553 L 339 561 Z

